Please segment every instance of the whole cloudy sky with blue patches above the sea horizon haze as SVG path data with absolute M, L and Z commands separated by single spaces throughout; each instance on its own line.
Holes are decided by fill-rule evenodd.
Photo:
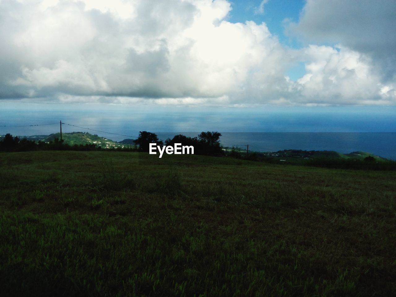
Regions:
M 0 100 L 394 106 L 395 15 L 394 0 L 0 0 Z

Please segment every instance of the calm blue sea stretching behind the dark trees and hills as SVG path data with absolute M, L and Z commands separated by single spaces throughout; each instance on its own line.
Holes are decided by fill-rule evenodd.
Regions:
M 387 113 L 365 113 L 358 108 L 343 110 L 193 110 L 162 107 L 97 105 L 0 104 L 0 135 L 48 135 L 59 132 L 59 120 L 84 128 L 109 131 L 107 134 L 75 126 L 62 126 L 63 132 L 87 131 L 120 141 L 138 136 L 139 131 L 155 132 L 165 140 L 175 134 L 195 137 L 199 131 L 219 131 L 227 146 L 249 145 L 249 150 L 283 149 L 335 150 L 341 153 L 366 151 L 396 159 L 396 109 Z M 356 114 L 352 110 L 358 110 Z M 293 112 L 292 112 L 293 111 Z M 363 110 L 364 111 L 364 110 Z M 54 124 L 52 124 L 54 123 Z M 52 124 L 46 126 L 30 126 Z M 23 126 L 23 127 L 17 127 Z M 368 132 L 361 132 L 361 131 Z M 170 132 L 166 132 L 170 131 Z M 197 131 L 197 132 L 177 132 Z M 225 132 L 232 131 L 232 132 Z M 251 131 L 251 132 L 244 132 Z M 266 131 L 266 132 L 263 132 Z M 283 131 L 290 131 L 284 133 Z M 301 131 L 301 132 L 299 132 Z M 316 132 L 318 131 L 318 132 Z M 333 133 L 332 131 L 338 131 Z M 376 131 L 384 131 L 378 133 Z M 123 136 L 128 135 L 128 136 Z

